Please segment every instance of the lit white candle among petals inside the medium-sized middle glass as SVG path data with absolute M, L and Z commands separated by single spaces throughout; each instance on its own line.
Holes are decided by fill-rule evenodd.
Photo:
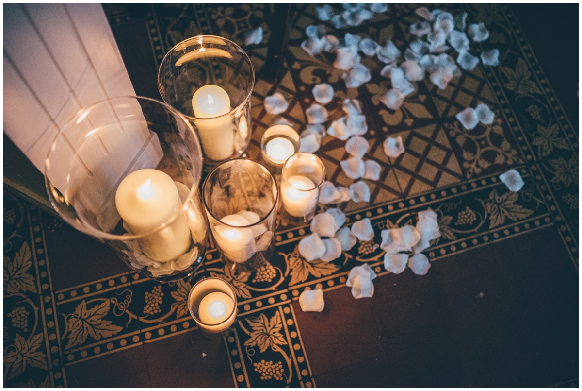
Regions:
M 244 228 L 249 221 L 239 214 L 229 214 L 220 221 L 228 225 L 217 224 L 214 238 L 226 258 L 238 263 L 249 260 L 257 251 L 253 231 Z

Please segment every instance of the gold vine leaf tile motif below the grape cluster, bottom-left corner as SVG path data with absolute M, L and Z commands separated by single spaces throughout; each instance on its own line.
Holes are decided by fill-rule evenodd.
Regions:
M 47 370 L 47 355 L 40 351 L 42 344 L 42 333 L 24 339 L 20 334 L 16 334 L 14 343 L 5 348 L 8 353 L 4 356 L 6 369 L 10 368 L 9 379 L 20 375 L 27 366 Z

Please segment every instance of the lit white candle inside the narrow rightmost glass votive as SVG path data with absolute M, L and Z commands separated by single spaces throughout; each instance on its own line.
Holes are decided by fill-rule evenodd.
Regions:
M 307 216 L 317 206 L 317 189 L 311 179 L 295 175 L 281 182 L 281 200 L 291 216 Z

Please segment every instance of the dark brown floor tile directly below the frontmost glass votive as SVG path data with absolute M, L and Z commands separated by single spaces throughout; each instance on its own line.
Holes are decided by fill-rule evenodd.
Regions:
M 144 351 L 152 387 L 233 388 L 222 339 L 208 339 L 192 330 L 145 343 Z

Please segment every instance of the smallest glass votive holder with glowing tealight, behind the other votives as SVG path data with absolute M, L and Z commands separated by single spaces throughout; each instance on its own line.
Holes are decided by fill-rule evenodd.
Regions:
M 267 167 L 281 172 L 283 163 L 299 150 L 299 133 L 286 124 L 272 125 L 262 133 L 262 160 Z

